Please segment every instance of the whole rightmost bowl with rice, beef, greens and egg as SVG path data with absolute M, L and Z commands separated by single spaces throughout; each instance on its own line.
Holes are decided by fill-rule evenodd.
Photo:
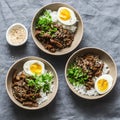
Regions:
M 68 59 L 65 77 L 68 86 L 75 94 L 83 98 L 95 99 L 106 95 L 113 88 L 116 67 L 112 59 L 103 51 L 84 48 L 76 51 Z

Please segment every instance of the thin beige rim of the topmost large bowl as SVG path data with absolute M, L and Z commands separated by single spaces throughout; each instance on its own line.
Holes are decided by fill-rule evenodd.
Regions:
M 37 39 L 35 38 L 35 36 L 34 36 L 34 34 L 33 34 L 33 23 L 34 23 L 34 20 L 35 20 L 37 14 L 38 14 L 42 9 L 44 9 L 44 7 L 47 7 L 47 6 L 49 6 L 49 5 L 55 5 L 55 4 L 60 4 L 61 6 L 62 6 L 62 5 L 66 5 L 66 6 L 68 6 L 69 8 L 72 8 L 72 9 L 75 11 L 75 13 L 78 15 L 78 17 L 80 18 L 80 21 L 81 21 L 81 38 L 80 38 L 80 40 L 79 40 L 79 43 L 78 43 L 75 47 L 71 48 L 69 51 L 64 52 L 64 53 L 63 53 L 63 52 L 59 52 L 59 54 L 57 54 L 56 52 L 55 52 L 55 53 L 49 52 L 48 50 L 45 50 L 45 48 L 41 49 L 41 47 L 37 44 L 37 41 L 36 41 Z M 84 24 L 83 24 L 83 20 L 82 20 L 81 15 L 79 14 L 79 12 L 78 12 L 74 7 L 72 7 L 71 5 L 66 4 L 66 3 L 62 3 L 62 2 L 48 3 L 48 4 L 44 5 L 44 6 L 42 6 L 41 8 L 39 8 L 39 9 L 36 11 L 36 13 L 34 14 L 34 17 L 32 18 L 32 22 L 31 22 L 31 34 L 32 34 L 32 39 L 33 39 L 35 45 L 36 45 L 41 51 L 43 51 L 43 52 L 45 52 L 45 53 L 47 53 L 47 54 L 49 54 L 49 55 L 60 56 L 60 55 L 65 55 L 65 54 L 68 54 L 68 53 L 72 52 L 73 50 L 75 50 L 75 49 L 79 46 L 80 42 L 82 41 L 83 33 L 84 33 Z

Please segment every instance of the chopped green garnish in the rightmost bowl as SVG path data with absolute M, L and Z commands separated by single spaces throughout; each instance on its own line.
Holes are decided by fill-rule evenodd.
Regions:
M 71 65 L 67 71 L 67 77 L 70 83 L 74 86 L 79 86 L 85 84 L 88 80 L 88 75 L 86 72 L 83 72 L 81 67 Z

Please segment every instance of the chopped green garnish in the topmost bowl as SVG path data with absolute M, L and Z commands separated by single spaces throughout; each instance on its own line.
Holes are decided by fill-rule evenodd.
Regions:
M 44 33 L 52 35 L 57 31 L 57 28 L 53 25 L 52 17 L 48 10 L 44 11 L 43 15 L 38 18 L 36 28 L 41 30 L 41 35 Z

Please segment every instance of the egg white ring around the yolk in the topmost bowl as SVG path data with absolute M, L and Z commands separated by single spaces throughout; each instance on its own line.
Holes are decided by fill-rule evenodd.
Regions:
M 71 18 L 70 18 L 69 20 L 62 20 L 62 19 L 59 17 L 60 11 L 61 11 L 62 9 L 67 9 L 67 10 L 70 12 Z M 76 18 L 76 16 L 75 16 L 75 13 L 74 13 L 71 9 L 69 9 L 69 8 L 67 8 L 67 7 L 60 7 L 60 8 L 58 9 L 57 19 L 58 19 L 59 22 L 61 22 L 61 23 L 64 24 L 64 25 L 73 25 L 73 24 L 75 24 L 75 23 L 77 22 L 77 18 Z

